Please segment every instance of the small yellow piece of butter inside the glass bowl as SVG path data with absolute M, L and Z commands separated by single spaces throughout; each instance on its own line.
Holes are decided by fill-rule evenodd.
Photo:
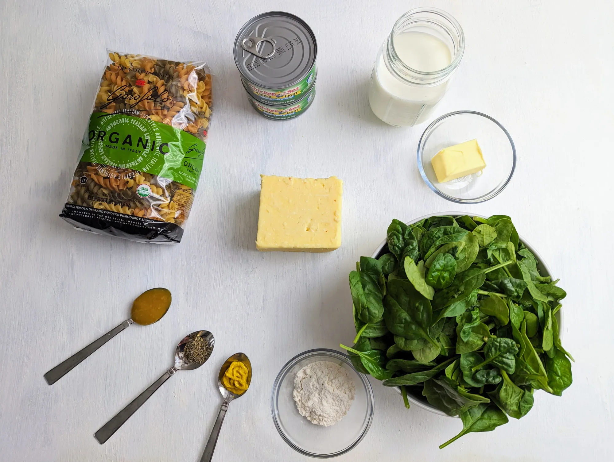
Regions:
M 476 139 L 442 149 L 433 156 L 430 163 L 440 183 L 456 180 L 486 167 Z

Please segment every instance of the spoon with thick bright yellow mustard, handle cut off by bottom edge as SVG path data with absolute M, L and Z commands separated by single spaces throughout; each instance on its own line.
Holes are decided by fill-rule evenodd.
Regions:
M 228 404 L 235 398 L 243 396 L 249 388 L 249 384 L 252 381 L 252 364 L 249 362 L 249 358 L 245 353 L 236 353 L 230 356 L 220 368 L 220 373 L 217 376 L 217 387 L 222 393 L 224 402 L 220 407 L 220 412 L 217 414 L 216 423 L 213 425 L 211 434 L 209 435 L 209 441 L 204 447 L 203 456 L 200 458 L 200 462 L 210 462 L 213 457 L 213 451 L 216 449 L 217 437 L 220 436 L 220 429 L 224 417 L 226 417 L 226 411 L 228 410 Z

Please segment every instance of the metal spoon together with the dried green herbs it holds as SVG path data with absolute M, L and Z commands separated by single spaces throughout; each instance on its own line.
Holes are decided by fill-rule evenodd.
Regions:
M 153 395 L 153 392 L 160 388 L 166 380 L 175 372 L 181 369 L 200 368 L 211 356 L 213 351 L 214 338 L 209 331 L 196 331 L 185 336 L 175 349 L 175 363 L 168 369 L 160 379 L 153 382 L 147 390 L 134 398 L 128 406 L 124 407 L 109 422 L 105 423 L 95 434 L 96 441 L 104 444 L 122 426 L 128 418 L 136 412 L 142 404 Z

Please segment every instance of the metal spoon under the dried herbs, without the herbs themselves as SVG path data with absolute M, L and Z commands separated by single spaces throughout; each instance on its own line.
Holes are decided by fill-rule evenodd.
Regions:
M 214 345 L 213 334 L 209 331 L 196 331 L 188 336 L 185 336 L 184 339 L 181 342 L 179 342 L 179 345 L 177 345 L 177 348 L 175 349 L 175 364 L 173 364 L 173 367 L 168 369 L 168 371 L 166 371 L 164 374 L 162 374 L 160 379 L 153 382 L 149 386 L 149 388 L 147 388 L 147 390 L 141 393 L 141 395 L 134 398 L 134 401 L 128 404 L 128 406 L 124 407 L 122 410 L 120 410 L 120 412 L 115 414 L 115 417 L 109 420 L 109 422 L 105 423 L 94 434 L 96 441 L 98 441 L 100 444 L 104 444 L 104 442 L 106 442 L 107 439 L 109 439 L 111 435 L 114 434 L 120 428 L 120 426 L 122 426 L 126 422 L 126 420 L 128 420 L 128 418 L 131 415 L 133 415 L 134 412 L 136 412 L 136 410 L 139 409 L 139 407 L 141 407 L 142 404 L 145 401 L 147 401 L 147 399 L 149 399 L 150 396 L 153 395 L 153 392 L 158 390 L 158 388 L 160 388 L 160 385 L 166 382 L 166 380 L 169 377 L 171 377 L 171 375 L 173 375 L 175 372 L 179 371 L 180 369 L 191 370 L 191 369 L 200 368 L 200 366 L 204 364 L 204 363 L 189 363 L 184 358 L 185 344 L 190 339 L 192 339 L 192 337 L 203 337 L 204 340 L 209 345 L 209 348 L 211 348 L 209 350 L 209 356 L 207 357 L 206 360 L 204 360 L 204 362 L 206 363 L 209 357 L 211 357 L 211 352 L 213 351 L 213 345 Z

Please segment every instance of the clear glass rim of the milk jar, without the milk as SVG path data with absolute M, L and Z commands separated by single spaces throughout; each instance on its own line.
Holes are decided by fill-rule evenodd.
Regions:
M 400 28 L 406 26 L 407 20 L 410 19 L 412 16 L 416 15 L 417 13 L 431 13 L 433 15 L 438 15 L 442 17 L 444 20 L 449 22 L 449 24 L 451 25 L 451 28 L 454 29 L 454 32 L 456 33 L 458 37 L 459 46 L 457 49 L 455 46 L 455 50 L 453 50 L 455 52 L 453 59 L 451 60 L 450 64 L 448 64 L 448 66 L 446 67 L 443 67 L 443 69 L 438 69 L 437 71 L 419 71 L 418 69 L 414 69 L 413 67 L 410 67 L 407 64 L 405 64 L 403 60 L 401 60 L 401 58 L 397 54 L 397 50 L 395 50 L 394 48 L 393 37 L 397 35 L 398 30 Z M 444 29 L 446 33 L 449 34 L 450 31 L 443 24 L 438 23 L 438 22 L 432 22 L 432 24 Z M 456 40 L 454 40 L 454 38 L 452 38 L 452 40 L 456 45 Z M 399 75 L 397 69 L 395 69 L 395 71 L 397 71 L 395 72 L 395 74 L 397 74 L 398 77 L 401 77 L 404 80 L 410 80 L 411 77 L 417 77 L 418 80 L 427 80 L 427 82 L 416 82 L 414 79 L 411 79 L 411 83 L 414 83 L 417 85 L 433 85 L 435 83 L 440 83 L 441 80 L 446 79 L 446 77 L 451 75 L 456 70 L 456 67 L 458 67 L 458 65 L 461 63 L 462 56 L 464 55 L 464 52 L 465 52 L 465 34 L 462 30 L 461 25 L 458 23 L 458 21 L 453 16 L 449 15 L 449 13 L 446 13 L 445 11 L 440 10 L 438 8 L 434 8 L 434 7 L 419 7 L 419 8 L 414 8 L 404 13 L 394 23 L 394 26 L 392 26 L 392 31 L 390 35 L 388 36 L 387 43 L 388 43 L 388 47 L 387 47 L 388 51 L 392 53 L 392 57 L 395 60 L 393 67 L 400 66 L 402 71 L 404 71 L 406 74 L 409 74 L 409 75 L 407 76 L 408 78 L 405 77 L 405 75 Z

